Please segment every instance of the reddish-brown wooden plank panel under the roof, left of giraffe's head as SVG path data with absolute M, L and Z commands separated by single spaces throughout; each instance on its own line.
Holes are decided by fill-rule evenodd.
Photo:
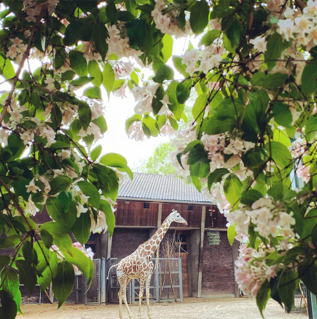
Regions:
M 116 226 L 157 226 L 157 203 L 149 203 L 149 208 L 143 208 L 144 202 L 138 201 L 117 200 L 117 203 Z

